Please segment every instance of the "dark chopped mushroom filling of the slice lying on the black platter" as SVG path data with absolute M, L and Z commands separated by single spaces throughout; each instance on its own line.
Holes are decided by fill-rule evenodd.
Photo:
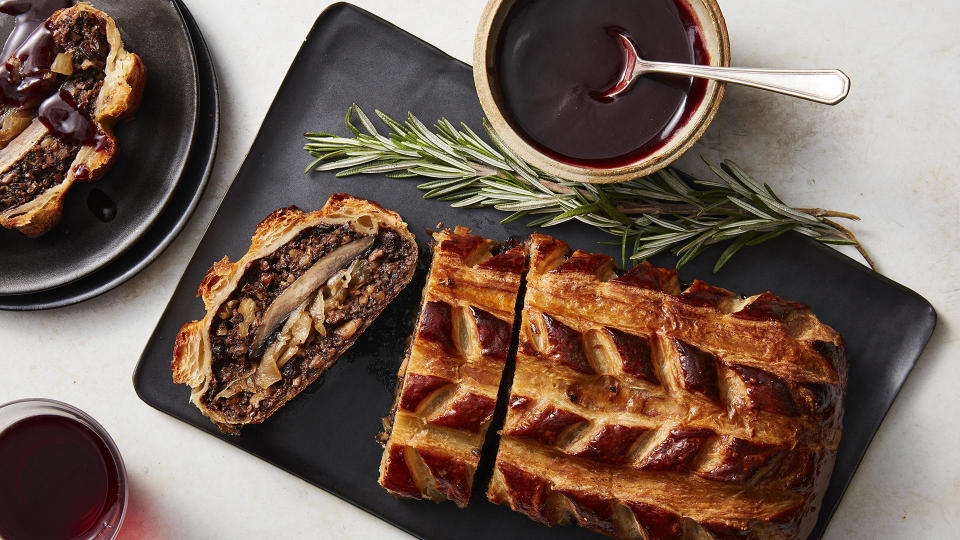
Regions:
M 302 301 L 289 315 L 286 310 L 280 318 L 268 313 L 275 302 L 289 300 L 284 293 L 311 268 L 329 262 L 345 246 L 364 247 L 364 239 L 370 237 L 349 224 L 318 225 L 247 267 L 210 326 L 215 380 L 203 397 L 208 406 L 230 417 L 269 410 L 316 378 L 353 342 L 392 296 L 395 276 L 415 249 L 394 231 L 381 229 L 372 245 L 337 264 L 319 287 L 298 295 L 296 301 Z M 261 326 L 269 327 L 268 318 L 282 322 L 267 329 L 270 337 L 257 349 L 254 336 Z

